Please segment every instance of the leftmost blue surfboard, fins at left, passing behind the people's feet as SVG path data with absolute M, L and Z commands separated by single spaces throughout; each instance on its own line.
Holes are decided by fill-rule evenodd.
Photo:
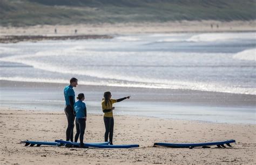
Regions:
M 60 143 L 60 142 L 53 142 L 53 141 L 29 141 L 29 140 L 26 140 L 26 141 L 21 141 L 23 143 L 25 143 L 25 146 L 41 146 L 41 145 L 46 145 L 46 146 L 62 146 L 63 144 Z M 79 144 L 79 143 L 78 143 Z M 108 145 L 109 142 L 95 142 L 95 143 L 89 143 L 89 144 L 99 144 L 99 145 Z

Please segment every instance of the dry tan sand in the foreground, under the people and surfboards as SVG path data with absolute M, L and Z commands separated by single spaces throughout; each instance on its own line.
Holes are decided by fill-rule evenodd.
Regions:
M 114 144 L 139 144 L 132 149 L 24 147 L 21 140 L 65 139 L 64 112 L 0 109 L 1 164 L 119 163 L 256 163 L 255 125 L 214 124 L 135 116 L 114 116 Z M 104 139 L 103 116 L 89 114 L 86 142 Z M 233 148 L 164 148 L 154 142 L 205 142 L 235 139 Z

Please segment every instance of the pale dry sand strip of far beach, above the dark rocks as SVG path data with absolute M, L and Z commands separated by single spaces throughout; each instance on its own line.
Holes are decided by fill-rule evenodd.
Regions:
M 212 27 L 211 27 L 212 25 Z M 57 30 L 57 34 L 55 33 Z M 166 23 L 117 23 L 78 25 L 37 25 L 1 27 L 1 35 L 71 35 L 75 34 L 138 34 L 173 32 L 241 32 L 256 31 L 256 20 L 251 21 L 168 21 Z

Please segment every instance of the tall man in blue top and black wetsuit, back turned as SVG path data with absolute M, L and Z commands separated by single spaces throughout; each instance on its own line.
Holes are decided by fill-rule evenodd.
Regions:
M 65 97 L 65 113 L 66 119 L 68 119 L 68 128 L 66 128 L 66 141 L 73 141 L 73 128 L 75 121 L 75 91 L 73 87 L 77 87 L 77 78 L 72 77 L 70 79 L 70 85 L 64 88 L 64 97 Z

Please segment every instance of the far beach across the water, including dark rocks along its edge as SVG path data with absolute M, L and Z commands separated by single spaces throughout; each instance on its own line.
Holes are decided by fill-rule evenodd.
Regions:
M 55 32 L 56 30 L 56 32 Z M 206 32 L 252 32 L 256 20 L 251 21 L 168 21 L 165 23 L 116 23 L 77 25 L 36 25 L 25 27 L 0 26 L 0 43 L 20 41 L 99 39 L 114 35 L 145 33 L 206 33 Z

